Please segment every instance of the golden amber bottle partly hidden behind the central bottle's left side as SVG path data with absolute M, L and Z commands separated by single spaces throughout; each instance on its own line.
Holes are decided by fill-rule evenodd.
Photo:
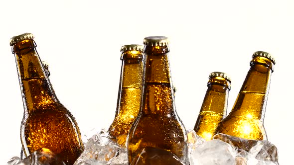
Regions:
M 144 46 L 125 45 L 121 48 L 121 79 L 116 116 L 109 134 L 125 145 L 130 128 L 139 110 L 143 88 Z

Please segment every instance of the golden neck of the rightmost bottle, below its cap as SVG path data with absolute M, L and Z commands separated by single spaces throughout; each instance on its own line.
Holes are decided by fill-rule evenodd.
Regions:
M 251 68 L 232 109 L 233 114 L 263 121 L 272 71 L 268 65 L 254 60 L 251 62 Z

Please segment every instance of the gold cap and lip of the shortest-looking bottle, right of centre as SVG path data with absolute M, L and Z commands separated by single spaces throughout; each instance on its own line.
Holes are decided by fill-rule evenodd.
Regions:
M 211 84 L 218 84 L 227 87 L 229 90 L 231 89 L 231 77 L 223 72 L 212 72 L 209 75 L 209 81 L 207 86 Z

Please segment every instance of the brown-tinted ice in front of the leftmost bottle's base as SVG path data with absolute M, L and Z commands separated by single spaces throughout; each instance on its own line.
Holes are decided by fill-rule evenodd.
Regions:
M 27 158 L 13 157 L 7 165 L 65 165 L 53 152 L 47 148 L 41 148 L 33 152 Z

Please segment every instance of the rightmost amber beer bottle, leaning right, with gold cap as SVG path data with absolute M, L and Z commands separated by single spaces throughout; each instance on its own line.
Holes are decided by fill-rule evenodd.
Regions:
M 264 116 L 275 60 L 267 52 L 255 52 L 250 70 L 230 114 L 219 123 L 214 134 L 252 140 L 267 140 Z

